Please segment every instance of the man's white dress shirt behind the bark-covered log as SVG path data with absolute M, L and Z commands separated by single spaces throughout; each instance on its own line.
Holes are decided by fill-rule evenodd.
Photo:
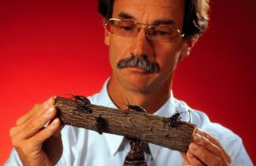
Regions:
M 89 99 L 93 104 L 116 108 L 109 98 L 106 88 L 107 82 L 103 85 L 101 92 L 89 97 Z M 211 122 L 206 114 L 201 111 L 193 110 L 183 101 L 175 99 L 173 92 L 154 115 L 170 117 L 176 113 L 176 110 L 181 112 L 188 109 L 191 110 L 191 123 L 197 124 L 198 128 L 210 133 L 220 141 L 224 150 L 227 150 L 231 156 L 232 165 L 253 165 L 243 146 L 242 139 L 238 135 L 228 128 L 224 128 L 221 124 Z M 182 121 L 189 121 L 189 114 L 180 115 Z M 99 135 L 98 132 L 70 125 L 65 125 L 61 135 L 64 150 L 57 165 L 121 166 L 130 150 L 128 141 L 121 135 L 107 133 Z M 184 162 L 178 151 L 151 143 L 149 143 L 149 150 L 147 153 L 145 152 L 145 159 L 148 166 L 182 165 Z M 6 162 L 7 165 L 22 165 L 14 148 Z

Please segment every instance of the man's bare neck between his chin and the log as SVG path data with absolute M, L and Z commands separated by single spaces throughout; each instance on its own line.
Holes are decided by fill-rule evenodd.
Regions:
M 172 80 L 169 79 L 153 92 L 145 93 L 124 88 L 117 79 L 111 77 L 107 89 L 110 98 L 119 109 L 127 110 L 129 103 L 130 105 L 142 106 L 147 110 L 147 113 L 154 114 L 169 99 Z

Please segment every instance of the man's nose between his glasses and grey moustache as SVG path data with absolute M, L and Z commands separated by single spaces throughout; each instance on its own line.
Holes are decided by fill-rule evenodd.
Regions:
M 152 54 L 152 45 L 146 36 L 145 28 L 141 28 L 139 33 L 132 38 L 131 53 L 134 56 L 150 56 Z

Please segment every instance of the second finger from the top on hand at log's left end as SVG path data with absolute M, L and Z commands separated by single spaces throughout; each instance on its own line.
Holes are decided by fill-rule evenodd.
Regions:
M 51 106 L 50 109 L 46 110 L 43 115 L 33 119 L 32 121 L 27 121 L 26 124 L 23 125 L 24 129 L 17 134 L 20 139 L 28 139 L 35 135 L 35 133 L 39 132 L 43 128 L 43 126 L 53 119 L 56 115 L 56 108 Z

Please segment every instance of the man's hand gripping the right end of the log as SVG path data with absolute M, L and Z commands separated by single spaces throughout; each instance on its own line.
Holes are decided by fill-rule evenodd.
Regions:
M 184 165 L 218 165 L 231 163 L 231 158 L 223 149 L 221 143 L 213 136 L 199 129 L 193 135 L 192 143 L 187 153 L 181 153 Z

